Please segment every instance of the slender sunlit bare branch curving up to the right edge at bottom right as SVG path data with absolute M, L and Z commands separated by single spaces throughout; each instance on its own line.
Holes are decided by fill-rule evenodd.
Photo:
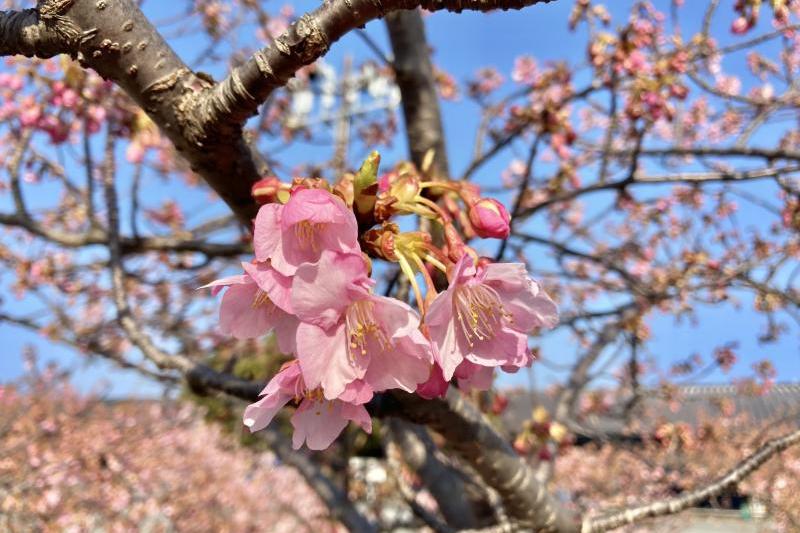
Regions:
M 798 443 L 800 443 L 800 430 L 767 442 L 710 485 L 668 500 L 625 509 L 599 518 L 587 519 L 584 521 L 581 531 L 582 533 L 600 533 L 633 524 L 646 518 L 675 514 L 693 507 L 700 502 L 722 494 L 725 489 L 742 481 L 772 457 Z

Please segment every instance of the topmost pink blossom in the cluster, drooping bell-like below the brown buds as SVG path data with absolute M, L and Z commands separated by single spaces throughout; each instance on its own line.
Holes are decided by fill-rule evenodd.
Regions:
M 339 197 L 322 189 L 301 189 L 286 205 L 259 209 L 253 247 L 258 261 L 271 260 L 276 270 L 291 276 L 303 263 L 316 263 L 323 250 L 360 251 L 358 223 Z

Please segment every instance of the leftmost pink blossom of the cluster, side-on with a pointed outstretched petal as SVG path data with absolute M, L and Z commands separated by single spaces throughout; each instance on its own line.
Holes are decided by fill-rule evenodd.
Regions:
M 267 263 L 242 263 L 242 268 L 244 274 L 201 287 L 211 287 L 214 295 L 228 288 L 219 309 L 220 331 L 251 339 L 274 330 L 278 348 L 284 353 L 294 352 L 298 320 L 289 298 L 291 279 Z

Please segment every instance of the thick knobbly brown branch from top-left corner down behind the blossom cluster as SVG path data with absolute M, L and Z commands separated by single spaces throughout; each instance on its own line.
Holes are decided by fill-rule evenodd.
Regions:
M 195 76 L 134 0 L 46 0 L 37 10 L 0 14 L 0 54 L 63 53 L 116 82 L 249 226 L 258 168 L 241 125 L 198 129 L 192 102 L 211 83 Z M 24 38 L 23 38 L 24 37 Z

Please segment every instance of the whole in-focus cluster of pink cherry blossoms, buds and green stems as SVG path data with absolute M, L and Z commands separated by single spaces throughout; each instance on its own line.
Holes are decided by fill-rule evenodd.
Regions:
M 377 392 L 434 398 L 454 378 L 462 389 L 487 389 L 496 367 L 530 365 L 528 333 L 557 322 L 555 304 L 524 265 L 479 258 L 462 238 L 507 237 L 502 204 L 471 185 L 425 182 L 407 164 L 378 179 L 377 165 L 373 154 L 334 187 L 274 177 L 257 183 L 255 259 L 242 263 L 242 274 L 207 285 L 214 294 L 227 287 L 223 333 L 273 331 L 279 349 L 294 355 L 245 410 L 244 424 L 263 429 L 292 402 L 296 448 L 327 448 L 349 421 L 371 431 L 365 405 Z M 423 194 L 434 187 L 438 196 Z M 456 222 L 450 208 L 458 202 L 466 216 Z M 391 219 L 404 214 L 438 222 L 443 246 L 429 234 L 401 232 Z M 375 294 L 371 258 L 399 265 L 418 311 Z M 437 269 L 444 290 L 444 281 L 434 282 Z

